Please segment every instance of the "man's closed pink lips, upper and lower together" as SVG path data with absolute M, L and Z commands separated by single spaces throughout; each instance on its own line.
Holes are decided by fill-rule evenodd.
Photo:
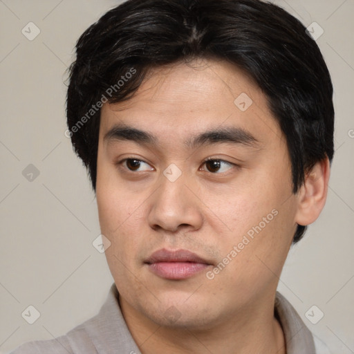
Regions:
M 212 266 L 210 261 L 188 250 L 169 251 L 165 248 L 153 252 L 145 264 L 153 274 L 170 280 L 187 279 Z

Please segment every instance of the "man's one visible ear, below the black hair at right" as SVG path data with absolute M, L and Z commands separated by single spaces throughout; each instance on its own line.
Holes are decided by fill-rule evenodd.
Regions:
M 295 222 L 298 225 L 313 223 L 322 212 L 326 203 L 330 164 L 324 158 L 306 173 L 305 182 L 297 192 L 297 213 Z

